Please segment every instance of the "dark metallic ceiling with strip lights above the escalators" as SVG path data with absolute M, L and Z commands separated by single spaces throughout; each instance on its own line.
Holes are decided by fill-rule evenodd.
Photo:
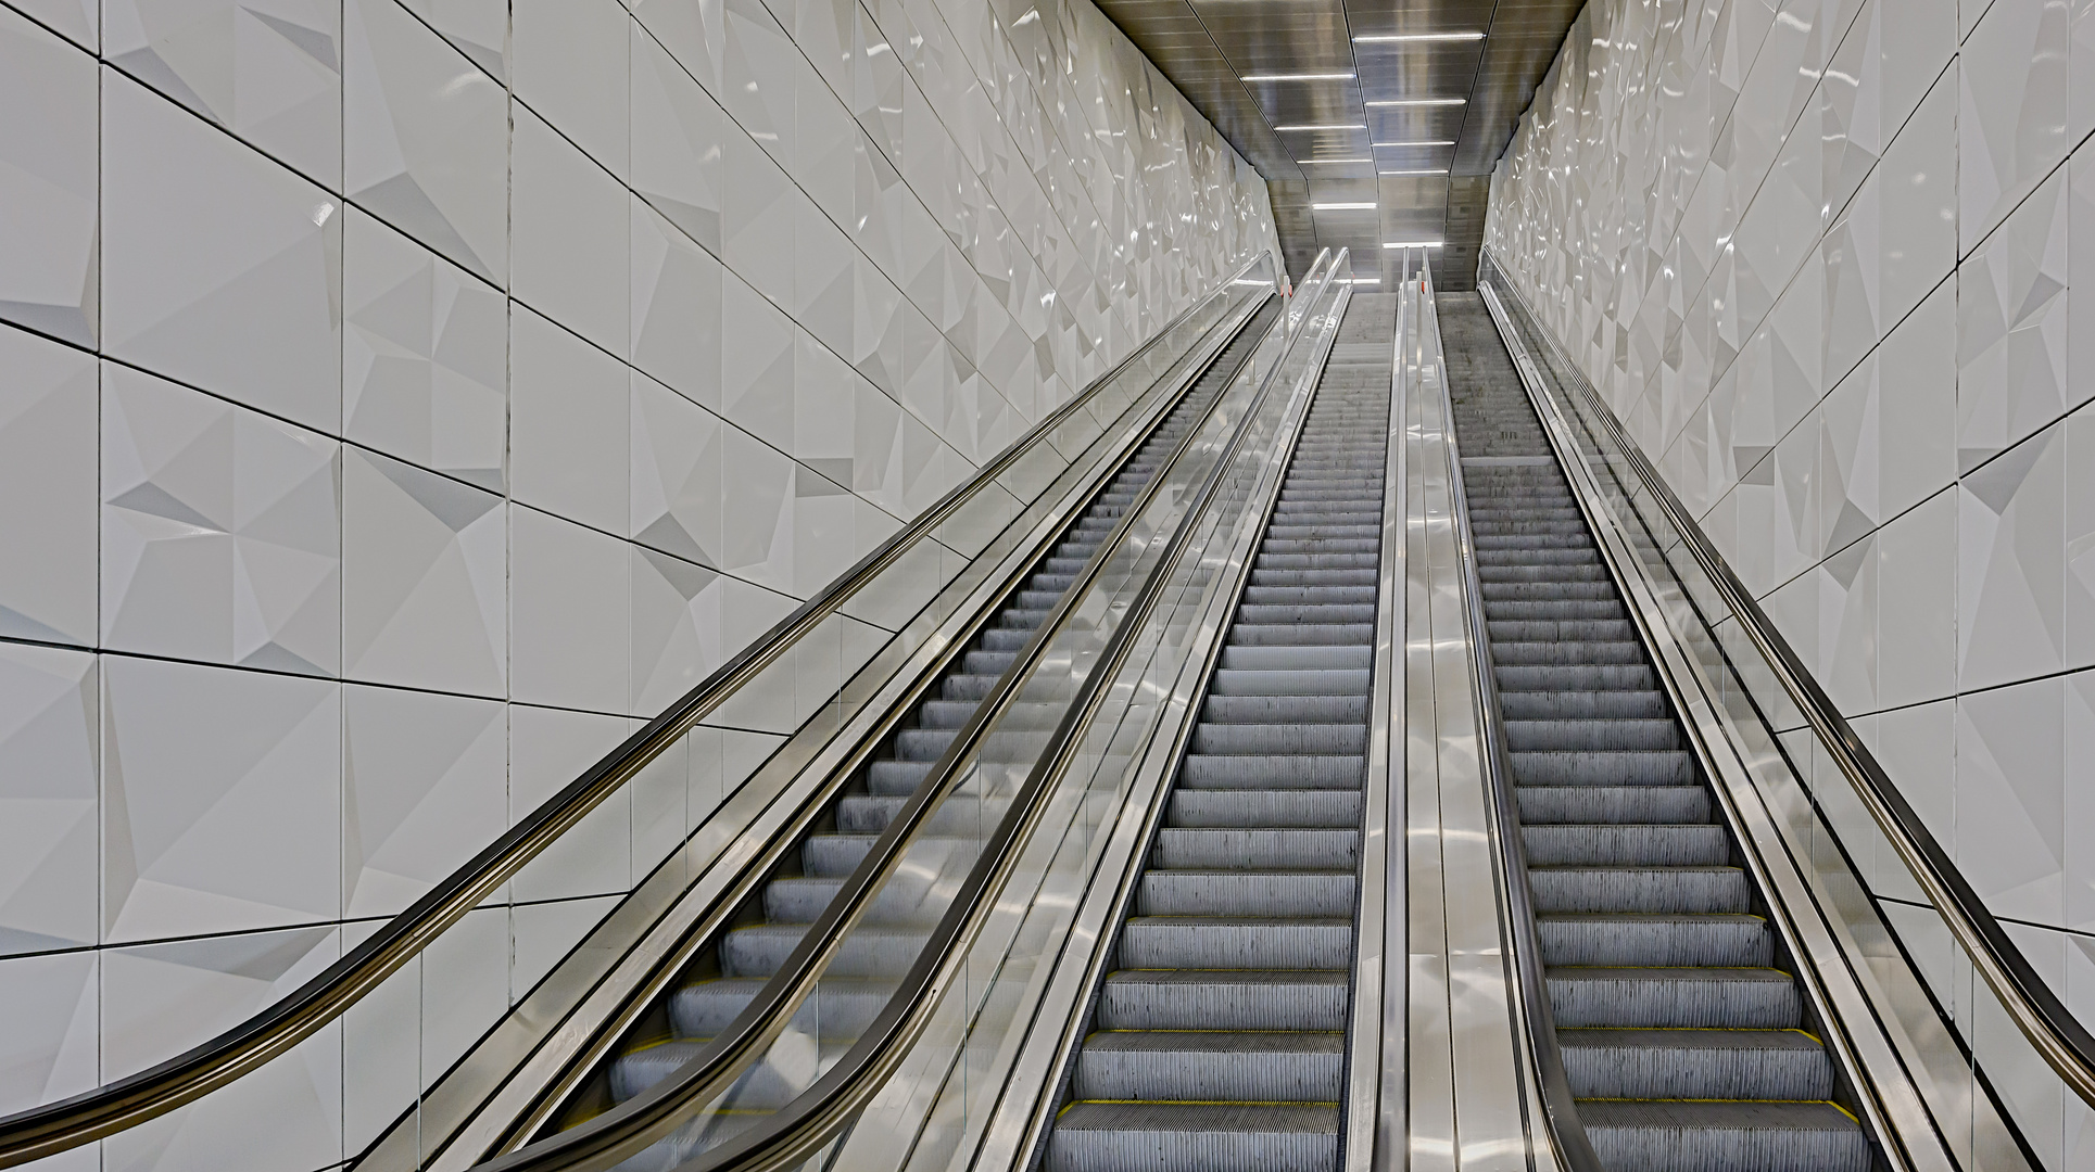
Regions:
M 1467 289 L 1492 167 L 1584 0 L 1098 0 L 1265 176 L 1297 278 L 1351 249 L 1393 285 L 1389 243 L 1439 241 Z

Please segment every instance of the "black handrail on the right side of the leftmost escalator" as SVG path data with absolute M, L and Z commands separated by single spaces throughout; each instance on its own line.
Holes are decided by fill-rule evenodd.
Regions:
M 1219 356 L 1221 350 L 1215 354 Z M 1244 362 L 1249 360 L 1251 356 L 1247 354 Z M 1209 404 L 1203 410 L 1200 419 L 1205 421 L 1217 404 L 1219 396 L 1215 404 Z M 1198 437 L 1198 421 L 1194 427 L 1188 427 L 1171 456 L 1159 465 L 1159 473 L 1135 494 L 1133 502 L 1121 513 L 1121 519 L 1115 523 L 1110 534 L 1100 542 L 1100 548 L 1085 561 L 1083 569 L 1077 571 L 1077 580 L 1062 592 L 1060 599 L 1056 599 L 1056 605 L 1027 638 L 1014 661 L 1004 670 L 989 695 L 976 705 L 968 722 L 955 732 L 953 741 L 932 764 L 926 779 L 918 783 L 916 793 L 903 802 L 903 808 L 888 820 L 888 827 L 880 833 L 880 837 L 874 839 L 874 846 L 867 850 L 859 866 L 848 879 L 844 879 L 844 885 L 830 898 L 830 904 L 800 936 L 800 942 L 765 982 L 750 1005 L 744 1007 L 719 1036 L 708 1040 L 700 1053 L 691 1055 L 691 1059 L 677 1067 L 677 1072 L 668 1078 L 662 1078 L 641 1095 L 635 1095 L 618 1107 L 612 1107 L 610 1111 L 603 1111 L 601 1115 L 595 1115 L 574 1128 L 478 1164 L 476 1168 L 480 1172 L 608 1168 L 618 1159 L 645 1149 L 668 1130 L 675 1130 L 693 1105 L 719 1099 L 727 1092 L 735 1078 L 742 1078 L 744 1067 L 763 1057 L 779 1032 L 784 1032 L 784 1028 L 792 1021 L 792 1015 L 798 1013 L 809 992 L 817 986 L 821 973 L 828 969 L 830 956 L 872 906 L 872 900 L 880 894 L 882 881 L 901 862 L 909 846 L 913 846 L 930 814 L 936 812 L 939 802 L 962 781 L 964 774 L 960 770 L 960 762 L 972 753 L 983 735 L 1016 701 L 1020 691 L 1018 684 L 1027 678 L 1031 666 L 1045 653 L 1064 617 L 1087 594 L 1091 582 L 1096 582 L 1104 569 L 1112 548 L 1135 523 L 1135 519 L 1140 519 L 1146 502 L 1154 498 L 1165 479 L 1163 469 L 1167 469 L 1179 454 L 1186 452 L 1188 446 L 1192 446 Z

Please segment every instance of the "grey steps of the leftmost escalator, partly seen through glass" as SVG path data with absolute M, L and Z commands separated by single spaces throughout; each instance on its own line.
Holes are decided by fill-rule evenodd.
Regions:
M 1209 370 L 1196 379 L 1194 387 L 1165 414 L 1150 435 L 1135 448 L 1133 456 L 1112 475 L 1098 498 L 1085 509 L 1075 525 L 1050 550 L 1045 559 L 1027 576 L 999 609 L 983 624 L 974 645 L 962 653 L 957 666 L 926 693 L 916 712 L 903 720 L 895 737 L 892 751 L 882 751 L 867 766 L 865 793 L 846 793 L 836 804 L 836 831 L 813 833 L 800 848 L 800 877 L 775 879 L 763 892 L 763 921 L 735 927 L 719 944 L 721 975 L 687 984 L 670 994 L 668 1017 L 672 1040 L 635 1046 L 612 1063 L 610 1082 L 616 1101 L 631 1099 L 647 1086 L 660 1082 L 691 1055 L 704 1049 L 706 1040 L 727 1028 L 742 1009 L 756 998 L 800 936 L 842 889 L 844 879 L 859 866 L 880 831 L 903 808 L 918 785 L 930 774 L 939 756 L 960 728 L 974 716 L 978 703 L 989 695 L 997 676 L 1018 657 L 1027 638 L 1045 622 L 1048 613 L 1075 584 L 1075 576 L 1098 550 L 1098 544 L 1112 532 L 1123 509 L 1148 483 L 1163 460 L 1167 460 L 1186 437 L 1186 431 L 1200 419 L 1211 402 L 1228 387 L 1226 377 L 1265 337 L 1267 324 L 1278 316 L 1280 306 L 1267 303 L 1251 322 L 1238 331 Z M 972 829 L 972 820 L 970 820 Z M 936 833 L 936 816 L 930 831 Z M 848 1042 L 886 1005 L 895 984 L 916 961 L 918 950 L 930 936 L 930 923 L 899 908 L 884 908 L 884 900 L 874 902 L 867 919 L 851 933 L 840 954 L 830 965 L 819 1007 L 815 998 L 802 1009 L 813 1032 L 813 1015 L 821 1015 L 821 1055 L 828 1067 Z M 901 902 L 901 900 L 897 900 Z M 920 902 L 913 902 L 922 906 Z M 769 1063 L 758 1063 L 735 1086 L 737 1120 L 748 1120 L 748 1111 L 784 1107 L 800 1088 L 804 1078 L 784 1078 Z M 723 1118 L 725 1120 L 725 1118 Z M 727 1139 L 737 1124 L 714 1124 L 710 1141 Z

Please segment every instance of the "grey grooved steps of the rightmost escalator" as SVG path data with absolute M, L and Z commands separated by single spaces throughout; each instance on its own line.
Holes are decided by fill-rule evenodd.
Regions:
M 1475 293 L 1441 293 L 1485 638 L 1565 1076 L 1609 1172 L 1862 1172 L 1710 783 Z

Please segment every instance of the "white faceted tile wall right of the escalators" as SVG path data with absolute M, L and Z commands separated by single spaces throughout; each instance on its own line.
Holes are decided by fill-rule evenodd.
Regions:
M 2095 1019 L 2091 13 L 1592 0 L 1487 236 Z

